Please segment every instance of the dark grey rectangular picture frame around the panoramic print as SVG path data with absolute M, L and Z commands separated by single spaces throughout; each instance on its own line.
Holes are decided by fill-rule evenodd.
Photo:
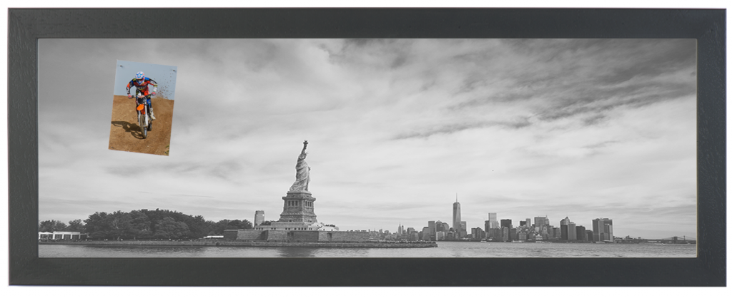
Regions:
M 725 13 L 723 9 L 10 9 L 10 284 L 726 286 Z M 130 22 L 130 15 L 146 22 Z M 698 257 L 38 258 L 38 39 L 316 37 L 698 40 Z M 526 278 L 527 272 L 539 268 L 550 269 L 551 274 Z M 436 274 L 457 271 L 460 278 Z

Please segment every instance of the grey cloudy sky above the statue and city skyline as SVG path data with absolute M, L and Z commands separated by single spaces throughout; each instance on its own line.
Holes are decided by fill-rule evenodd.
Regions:
M 39 220 L 277 220 L 308 140 L 341 229 L 548 215 L 696 236 L 694 40 L 42 39 Z M 170 156 L 108 150 L 116 60 L 178 66 Z M 144 69 L 141 69 L 144 71 Z M 152 79 L 155 79 L 152 77 Z

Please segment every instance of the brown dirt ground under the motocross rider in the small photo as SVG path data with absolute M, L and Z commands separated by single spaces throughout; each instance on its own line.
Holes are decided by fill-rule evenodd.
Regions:
M 152 130 L 147 132 L 147 139 L 143 139 L 137 123 L 135 99 L 114 96 L 109 149 L 167 156 L 171 145 L 173 101 L 153 97 L 152 108 L 156 120 L 152 121 Z

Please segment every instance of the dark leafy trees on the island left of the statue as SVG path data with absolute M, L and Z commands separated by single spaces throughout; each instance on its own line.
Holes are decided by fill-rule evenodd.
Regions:
M 171 210 L 132 210 L 113 213 L 96 212 L 83 221 L 75 219 L 41 221 L 39 232 L 82 232 L 91 239 L 152 240 L 187 239 L 222 235 L 226 229 L 253 229 L 250 221 L 206 221 L 201 215 L 187 215 Z

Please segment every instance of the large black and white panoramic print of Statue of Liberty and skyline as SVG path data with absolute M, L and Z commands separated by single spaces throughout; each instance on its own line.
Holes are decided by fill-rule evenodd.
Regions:
M 40 258 L 697 256 L 695 39 L 38 49 Z

